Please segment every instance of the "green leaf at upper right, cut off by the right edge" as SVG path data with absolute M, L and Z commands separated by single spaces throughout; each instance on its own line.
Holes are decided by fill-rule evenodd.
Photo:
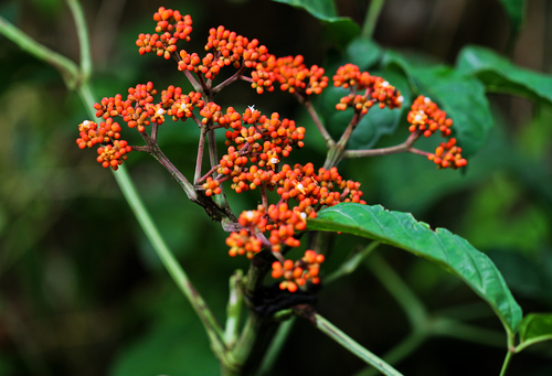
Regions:
M 479 78 L 489 92 L 552 104 L 551 75 L 516 66 L 490 50 L 467 46 L 458 55 L 456 66 L 463 74 Z

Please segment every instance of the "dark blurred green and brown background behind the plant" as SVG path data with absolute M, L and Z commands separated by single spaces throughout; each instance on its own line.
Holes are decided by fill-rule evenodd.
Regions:
M 257 37 L 277 56 L 302 54 L 323 65 L 340 51 L 307 12 L 268 0 L 84 0 L 94 60 L 96 99 L 152 80 L 187 87 L 172 61 L 140 56 L 135 41 L 152 32 L 158 7 L 193 19 L 188 51 L 201 55 L 210 28 L 223 24 Z M 369 1 L 337 1 L 340 15 L 363 22 Z M 30 36 L 74 61 L 74 22 L 62 0 L 0 1 L 0 14 Z M 454 64 L 468 44 L 487 46 L 516 64 L 551 73 L 552 3 L 526 3 L 518 34 L 498 0 L 388 0 L 374 40 L 383 47 Z M 190 304 L 180 294 L 139 228 L 113 174 L 95 152 L 76 144 L 87 118 L 60 74 L 0 36 L 0 375 L 216 375 L 219 365 Z M 327 72 L 331 77 L 335 72 Z M 495 127 L 466 173 L 437 171 L 413 154 L 351 160 L 341 175 L 362 183 L 369 204 L 412 212 L 446 227 L 487 253 L 524 312 L 552 310 L 552 109 L 506 95 L 489 96 Z M 221 93 L 217 103 L 308 123 L 282 93 L 258 96 L 247 84 Z M 160 146 L 191 175 L 198 135 L 191 123 L 162 127 Z M 406 128 L 403 127 L 403 130 Z M 127 133 L 128 135 L 128 133 Z M 396 144 L 404 131 L 379 146 Z M 130 139 L 139 143 L 138 138 Z M 312 148 L 309 148 L 311 142 Z M 429 149 L 431 150 L 431 149 Z M 307 126 L 296 161 L 323 162 L 323 143 Z M 246 268 L 230 258 L 225 234 L 188 202 L 152 158 L 126 162 L 171 249 L 221 321 L 227 278 Z M 235 212 L 254 207 L 255 193 L 230 194 Z M 193 219 L 193 221 L 192 221 Z M 367 241 L 340 236 L 325 268 L 337 268 Z M 427 261 L 391 248 L 381 255 L 431 310 L 468 307 L 474 321 L 500 333 L 500 322 L 458 279 Z M 328 286 L 319 312 L 375 354 L 408 333 L 404 313 L 368 268 Z M 484 346 L 448 337 L 427 341 L 399 365 L 406 375 L 498 375 L 503 341 Z M 551 375 L 550 343 L 514 356 L 511 375 Z M 297 322 L 273 375 L 350 375 L 353 355 L 305 322 Z

